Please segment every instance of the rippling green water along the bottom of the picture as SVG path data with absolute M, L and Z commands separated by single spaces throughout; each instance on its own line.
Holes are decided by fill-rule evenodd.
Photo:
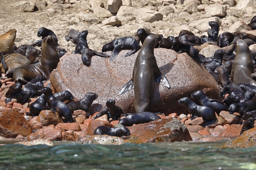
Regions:
M 222 144 L 7 144 L 0 146 L 0 170 L 256 170 L 256 147 L 220 148 Z

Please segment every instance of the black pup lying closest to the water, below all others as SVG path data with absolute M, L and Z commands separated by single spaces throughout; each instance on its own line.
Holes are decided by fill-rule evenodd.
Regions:
M 130 130 L 126 127 L 109 128 L 107 126 L 99 126 L 94 130 L 93 135 L 129 136 Z

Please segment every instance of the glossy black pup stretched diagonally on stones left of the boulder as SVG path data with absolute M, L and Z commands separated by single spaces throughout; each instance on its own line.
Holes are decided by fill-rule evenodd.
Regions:
M 56 97 L 54 97 L 54 95 L 52 94 L 52 90 L 50 88 L 44 87 L 38 92 L 45 94 L 45 100 L 50 106 L 50 110 L 52 110 L 52 112 L 58 112 L 60 116 L 65 117 L 67 123 L 74 122 L 70 108 L 67 106 L 67 104 L 56 99 Z

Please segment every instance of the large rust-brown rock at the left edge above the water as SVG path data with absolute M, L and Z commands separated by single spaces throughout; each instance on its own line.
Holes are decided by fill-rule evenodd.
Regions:
M 32 126 L 18 110 L 6 110 L 0 113 L 0 135 L 15 138 L 18 135 L 27 137 L 32 133 Z

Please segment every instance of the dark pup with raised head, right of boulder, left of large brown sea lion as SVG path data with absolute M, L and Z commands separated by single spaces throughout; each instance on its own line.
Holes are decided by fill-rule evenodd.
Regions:
M 218 66 L 222 65 L 222 59 L 224 54 L 225 50 L 216 50 L 210 62 L 205 62 L 205 60 L 203 60 L 201 64 L 207 69 L 207 71 L 215 71 Z

